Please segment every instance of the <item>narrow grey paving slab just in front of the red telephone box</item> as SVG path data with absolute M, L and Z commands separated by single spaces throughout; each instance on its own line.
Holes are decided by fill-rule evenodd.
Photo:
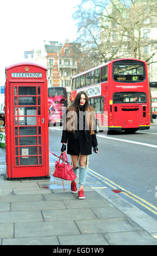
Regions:
M 14 188 L 14 194 L 50 194 L 51 191 L 45 188 Z

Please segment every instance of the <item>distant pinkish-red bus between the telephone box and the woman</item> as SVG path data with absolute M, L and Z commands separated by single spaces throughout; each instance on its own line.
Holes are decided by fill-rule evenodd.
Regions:
M 48 88 L 48 112 L 49 126 L 56 124 L 62 125 L 62 115 L 66 110 L 67 89 L 64 87 L 49 87 Z

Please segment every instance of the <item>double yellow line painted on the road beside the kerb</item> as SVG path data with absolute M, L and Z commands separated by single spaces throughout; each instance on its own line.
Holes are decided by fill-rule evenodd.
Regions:
M 111 180 L 105 178 L 105 177 L 102 176 L 101 174 L 98 174 L 98 173 L 94 172 L 94 170 L 92 170 L 92 169 L 89 169 L 89 170 L 90 170 L 90 173 L 91 173 L 91 174 L 95 173 L 95 174 L 93 174 L 93 175 L 96 176 L 96 178 L 99 178 L 99 176 L 100 176 L 101 178 L 104 179 L 104 180 L 102 180 L 103 182 L 105 182 L 105 183 L 108 184 L 109 186 L 113 187 L 114 189 L 117 189 L 117 187 L 121 188 L 121 190 L 123 190 L 123 191 L 121 191 L 121 193 L 123 193 L 123 194 L 125 194 L 126 196 L 130 197 L 130 198 L 133 199 L 136 203 L 141 204 L 141 205 L 144 206 L 146 209 L 148 209 L 149 211 L 152 211 L 155 215 L 157 215 L 157 212 L 154 211 L 154 210 L 152 210 L 151 208 L 149 208 L 147 205 L 151 206 L 151 207 L 154 208 L 155 210 L 156 210 L 157 208 L 156 208 L 154 205 L 152 205 L 151 203 L 147 202 L 145 199 L 142 199 L 142 198 L 136 196 L 135 194 L 133 194 L 133 193 L 131 193 L 131 192 L 125 190 L 125 188 L 122 188 L 121 186 L 115 184 L 113 181 L 111 181 Z M 88 172 L 89 172 L 89 170 L 88 170 Z M 97 175 L 98 175 L 98 176 L 97 176 Z M 100 178 L 99 178 L 99 179 L 100 179 Z M 113 186 L 112 184 L 110 184 L 110 183 L 107 182 L 106 180 L 108 180 L 109 182 L 111 182 L 112 184 L 114 184 L 114 185 L 117 186 L 117 187 Z M 124 192 L 124 191 L 125 191 L 125 192 Z M 126 192 L 127 192 L 127 193 L 126 193 Z M 129 194 L 128 194 L 128 193 L 129 193 Z M 141 203 L 139 200 L 135 199 L 134 197 L 138 198 L 139 200 L 141 200 L 143 203 L 145 203 L 145 204 L 147 204 L 147 205 Z

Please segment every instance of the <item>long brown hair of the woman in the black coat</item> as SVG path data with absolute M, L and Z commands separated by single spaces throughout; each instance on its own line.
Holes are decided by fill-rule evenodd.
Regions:
M 68 121 L 70 121 L 70 119 L 73 118 L 73 122 L 71 123 L 71 128 L 70 129 L 67 128 L 67 131 L 75 133 L 75 130 L 77 129 L 77 127 L 76 127 L 77 113 L 79 113 L 79 111 L 81 110 L 80 109 L 80 100 L 81 100 L 82 94 L 84 94 L 84 96 L 86 97 L 86 102 L 84 103 L 84 111 L 86 111 L 86 113 L 88 113 L 87 123 L 89 125 L 89 131 L 90 131 L 90 135 L 91 135 L 91 134 L 95 133 L 94 132 L 95 109 L 94 109 L 94 107 L 89 105 L 88 95 L 86 92 L 83 92 L 83 91 L 77 93 L 74 102 L 71 103 L 71 105 L 68 108 L 68 112 L 70 112 L 72 114 L 66 118 L 66 127 L 68 127 L 68 125 L 67 125 Z M 68 114 L 68 112 L 67 112 L 67 114 Z

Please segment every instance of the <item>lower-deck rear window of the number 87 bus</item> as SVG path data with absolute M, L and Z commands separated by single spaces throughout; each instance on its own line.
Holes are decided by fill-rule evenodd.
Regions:
M 114 93 L 113 103 L 146 103 L 146 93 L 130 92 L 130 93 Z

